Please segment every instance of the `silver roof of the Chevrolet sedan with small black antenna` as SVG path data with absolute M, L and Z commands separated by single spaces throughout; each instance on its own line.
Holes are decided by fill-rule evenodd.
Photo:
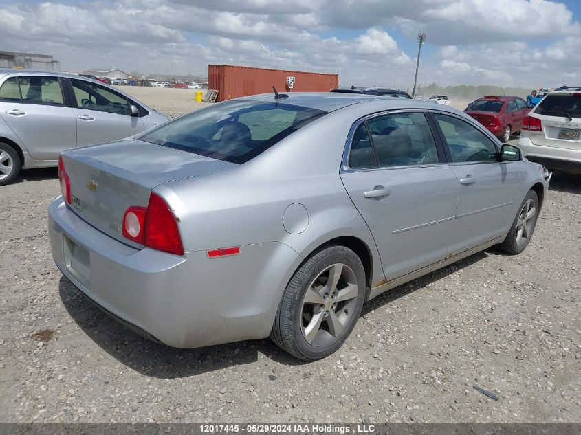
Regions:
M 282 94 L 282 92 L 280 93 Z M 248 100 L 256 102 L 279 102 L 281 104 L 294 104 L 301 107 L 309 107 L 326 112 L 336 111 L 353 104 L 380 104 L 381 110 L 393 109 L 434 109 L 433 102 L 410 100 L 409 98 L 385 98 L 382 96 L 362 93 L 339 92 L 288 92 L 288 98 L 275 100 L 274 93 L 261 93 L 259 95 L 237 98 L 236 100 Z M 230 100 L 231 101 L 231 100 Z M 438 107 L 438 109 L 441 109 Z M 452 109 L 454 113 L 461 113 Z

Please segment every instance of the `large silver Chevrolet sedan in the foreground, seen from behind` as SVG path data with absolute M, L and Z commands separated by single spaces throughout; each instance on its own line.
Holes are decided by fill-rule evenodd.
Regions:
M 549 173 L 464 113 L 338 93 L 239 98 L 61 155 L 52 256 L 157 342 L 337 350 L 364 301 L 529 243 Z

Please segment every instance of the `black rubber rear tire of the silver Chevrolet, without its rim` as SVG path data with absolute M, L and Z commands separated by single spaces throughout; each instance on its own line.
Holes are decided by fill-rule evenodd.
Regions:
M 348 271 L 349 274 L 351 272 L 353 273 L 356 279 L 357 296 L 351 302 L 349 317 L 345 320 L 341 333 L 333 338 L 330 332 L 324 331 L 325 327 L 331 327 L 330 324 L 325 326 L 325 324 L 321 323 L 320 333 L 322 335 L 327 333 L 331 341 L 325 344 L 314 345 L 307 342 L 303 333 L 303 322 L 305 322 L 303 302 L 305 293 L 326 269 L 333 267 L 337 263 L 347 265 L 348 267 L 344 270 Z M 337 287 L 340 287 L 340 285 Z M 323 287 L 323 289 L 325 288 Z M 314 361 L 315 359 L 331 355 L 342 346 L 345 339 L 353 331 L 355 323 L 357 323 L 361 315 L 365 289 L 365 271 L 360 258 L 355 252 L 342 245 L 324 245 L 320 247 L 320 249 L 311 254 L 303 262 L 303 265 L 298 268 L 289 281 L 283 293 L 281 303 L 278 306 L 278 312 L 276 313 L 270 338 L 283 350 L 305 361 Z M 344 311 L 347 311 L 347 309 Z M 329 320 L 323 320 L 322 322 L 329 322 Z

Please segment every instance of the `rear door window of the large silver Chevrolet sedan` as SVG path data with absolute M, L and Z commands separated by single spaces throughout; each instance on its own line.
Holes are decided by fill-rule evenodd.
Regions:
M 367 124 L 380 168 L 439 162 L 424 113 L 394 113 L 369 120 Z

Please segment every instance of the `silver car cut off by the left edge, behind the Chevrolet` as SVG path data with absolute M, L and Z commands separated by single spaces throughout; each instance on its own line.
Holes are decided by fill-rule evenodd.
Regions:
M 91 78 L 0 69 L 0 186 L 21 168 L 56 166 L 69 148 L 122 139 L 168 119 Z

